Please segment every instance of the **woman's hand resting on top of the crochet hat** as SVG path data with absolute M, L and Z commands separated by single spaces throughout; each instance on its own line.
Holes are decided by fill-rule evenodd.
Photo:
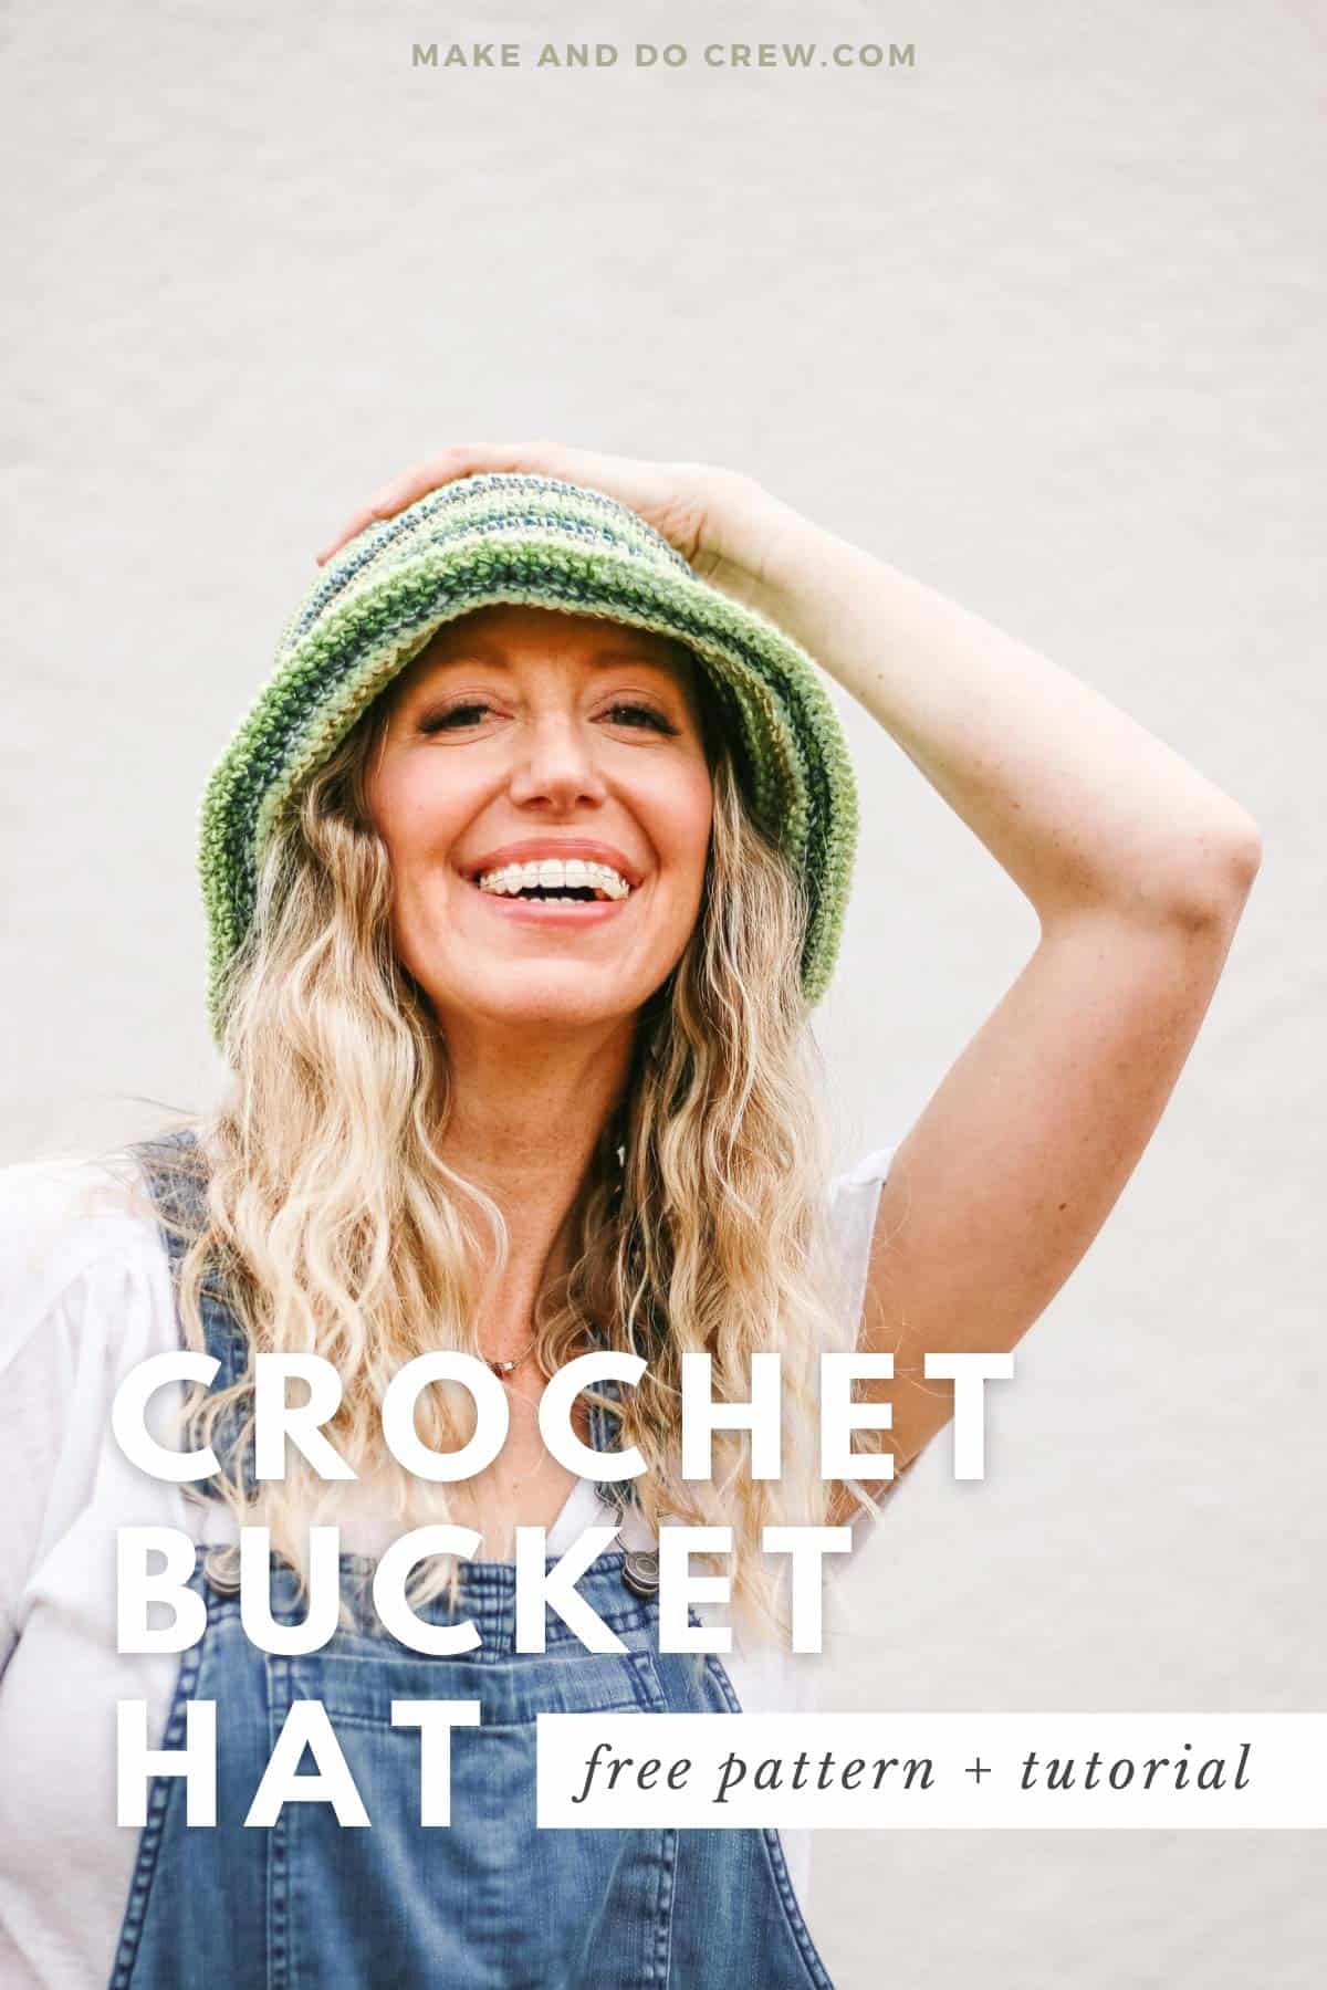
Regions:
M 651 464 L 629 456 L 571 450 L 561 442 L 460 442 L 384 484 L 322 547 L 316 555 L 318 565 L 366 525 L 394 517 L 440 484 L 485 472 L 559 478 L 617 498 L 700 571 L 706 559 L 722 557 L 724 511 L 744 494 L 762 496 L 750 478 L 710 464 Z

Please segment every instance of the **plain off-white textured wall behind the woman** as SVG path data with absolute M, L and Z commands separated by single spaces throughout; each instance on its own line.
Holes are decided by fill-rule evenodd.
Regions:
M 527 66 L 410 70 L 474 36 Z M 623 58 L 537 72 L 549 36 Z M 915 70 L 700 64 L 762 38 Z M 360 498 L 462 438 L 744 468 L 1096 685 L 1267 846 L 1144 1164 L 993 1391 L 987 1481 L 941 1437 L 853 1568 L 832 1697 L 1323 1707 L 1325 54 L 1311 0 L 10 10 L 0 1160 L 213 1096 L 195 804 Z M 1033 941 L 846 716 L 844 1164 Z M 1323 1966 L 1321 1873 L 1307 1833 L 834 1835 L 812 1922 L 848 1990 L 1283 1990 Z

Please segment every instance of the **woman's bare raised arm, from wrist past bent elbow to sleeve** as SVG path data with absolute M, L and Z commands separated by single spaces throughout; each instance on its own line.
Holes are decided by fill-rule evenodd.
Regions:
M 728 557 L 740 561 L 740 537 Z M 861 1323 L 893 1351 L 895 1469 L 953 1413 L 927 1351 L 1009 1351 L 1128 1182 L 1257 874 L 1251 818 L 1054 663 L 778 507 L 760 607 L 897 740 L 1041 939 L 881 1190 Z M 836 1514 L 840 1504 L 836 1502 Z

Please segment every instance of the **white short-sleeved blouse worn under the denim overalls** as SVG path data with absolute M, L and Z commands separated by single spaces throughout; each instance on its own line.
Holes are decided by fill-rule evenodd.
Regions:
M 850 1317 L 891 1150 L 834 1180 L 830 1212 Z M 223 1538 L 181 1487 L 129 1465 L 111 1399 L 149 1355 L 179 1347 L 165 1248 L 125 1156 L 0 1168 L 0 1984 L 90 1990 L 109 1980 L 137 1829 L 115 1823 L 115 1703 L 147 1703 L 159 1747 L 177 1654 L 115 1652 L 115 1530 Z M 161 1413 L 173 1391 L 159 1393 Z M 177 1395 L 177 1391 L 175 1391 Z M 613 1524 L 583 1479 L 549 1530 L 561 1554 Z M 219 1524 L 221 1522 L 221 1524 Z M 629 1512 L 627 1546 L 637 1540 Z M 340 1520 L 346 1552 L 380 1554 L 398 1522 Z M 832 1566 L 832 1564 L 828 1564 Z M 706 1612 L 700 1612 L 702 1616 Z M 746 1711 L 814 1699 L 816 1656 L 736 1646 L 724 1666 Z M 806 1912 L 810 1833 L 784 1833 Z

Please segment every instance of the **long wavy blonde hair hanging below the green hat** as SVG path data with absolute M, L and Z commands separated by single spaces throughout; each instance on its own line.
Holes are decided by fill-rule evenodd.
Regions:
M 800 987 L 804 888 L 752 820 L 714 695 L 696 679 L 714 790 L 700 915 L 639 1013 L 631 1079 L 573 1210 L 571 1270 L 541 1294 L 531 1329 L 549 1375 L 589 1347 L 645 1357 L 621 1401 L 589 1393 L 647 1461 L 631 1498 L 653 1530 L 732 1526 L 732 1556 L 696 1562 L 732 1578 L 738 1638 L 786 1638 L 788 1566 L 760 1534 L 766 1522 L 824 1524 L 820 1353 L 850 1351 L 855 1323 L 828 1230 L 822 1063 Z M 456 1512 L 446 1485 L 418 1481 L 386 1449 L 382 1393 L 416 1355 L 479 1355 L 477 1299 L 485 1272 L 501 1276 L 507 1230 L 440 1152 L 448 1045 L 396 957 L 392 870 L 366 806 L 388 712 L 380 696 L 267 844 L 225 989 L 233 1081 L 197 1122 L 207 1222 L 183 1256 L 179 1311 L 187 1345 L 203 1349 L 199 1295 L 219 1274 L 249 1339 L 241 1381 L 189 1391 L 195 1443 L 227 1419 L 243 1455 L 257 1351 L 322 1355 L 342 1383 L 326 1435 L 358 1479 L 386 1487 L 404 1532 Z M 750 1477 L 744 1431 L 714 1433 L 710 1481 L 682 1479 L 680 1357 L 708 1353 L 714 1397 L 742 1401 L 750 1357 L 766 1349 L 782 1355 L 782 1479 Z M 426 1445 L 454 1451 L 472 1429 L 464 1391 L 422 1393 Z M 269 1526 L 306 1590 L 306 1528 L 336 1518 L 336 1492 L 288 1447 L 283 1481 L 247 1496 L 227 1469 L 203 1496 L 223 1498 L 237 1524 Z M 511 1538 L 485 1538 L 483 1552 L 509 1554 Z M 456 1598 L 456 1558 L 434 1556 L 412 1600 Z

